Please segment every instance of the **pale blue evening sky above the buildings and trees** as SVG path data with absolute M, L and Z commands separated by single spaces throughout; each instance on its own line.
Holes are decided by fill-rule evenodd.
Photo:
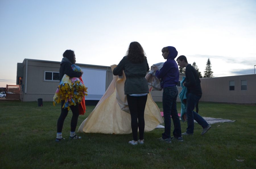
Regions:
M 176 47 L 203 74 L 210 58 L 215 77 L 253 74 L 256 65 L 255 0 L 67 1 L 0 0 L 0 87 L 16 84 L 25 58 L 118 64 L 138 41 L 148 64 L 164 62 Z

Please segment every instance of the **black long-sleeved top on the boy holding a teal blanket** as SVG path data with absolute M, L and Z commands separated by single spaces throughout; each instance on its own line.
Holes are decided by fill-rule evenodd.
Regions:
M 187 65 L 185 75 L 186 79 L 183 85 L 187 87 L 188 93 L 202 95 L 201 81 L 196 69 L 191 64 Z

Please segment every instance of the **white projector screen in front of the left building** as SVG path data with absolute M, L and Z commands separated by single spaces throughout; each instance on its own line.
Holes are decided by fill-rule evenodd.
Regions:
M 81 68 L 82 80 L 87 89 L 85 100 L 100 100 L 106 91 L 106 70 Z

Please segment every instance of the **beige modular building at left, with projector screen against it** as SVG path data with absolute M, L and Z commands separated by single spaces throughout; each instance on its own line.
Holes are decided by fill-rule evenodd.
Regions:
M 87 103 L 98 101 L 110 85 L 113 75 L 110 66 L 76 64 L 84 72 L 82 79 L 88 87 Z M 16 84 L 22 86 L 20 99 L 23 102 L 53 101 L 59 85 L 60 62 L 24 59 L 17 64 Z

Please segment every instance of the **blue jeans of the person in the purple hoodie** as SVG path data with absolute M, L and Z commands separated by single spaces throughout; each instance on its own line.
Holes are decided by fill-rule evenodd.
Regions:
M 177 112 L 178 90 L 176 86 L 165 87 L 163 91 L 164 133 L 162 139 L 171 137 L 171 116 L 174 124 L 173 136 L 181 137 L 181 126 Z

